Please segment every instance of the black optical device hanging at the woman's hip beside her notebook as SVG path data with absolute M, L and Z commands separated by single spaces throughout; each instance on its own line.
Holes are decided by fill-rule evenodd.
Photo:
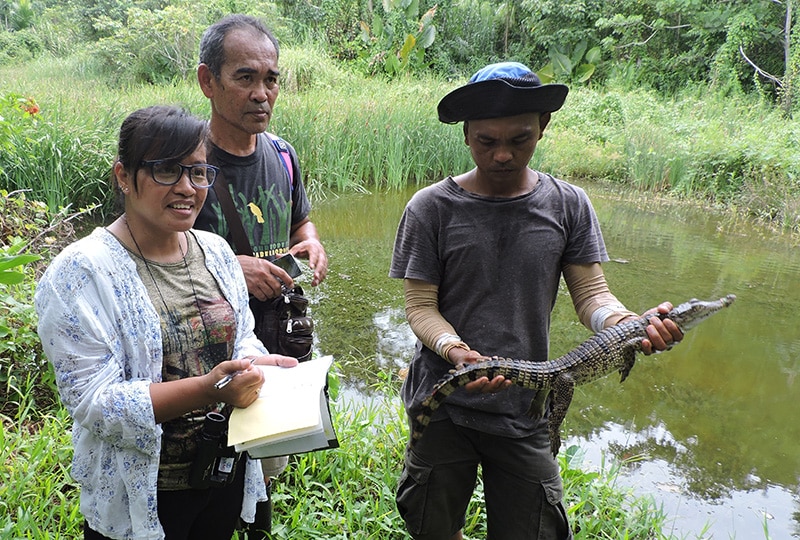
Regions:
M 194 489 L 221 487 L 233 482 L 240 454 L 226 444 L 228 419 L 218 412 L 206 414 L 197 441 L 197 455 L 189 471 Z

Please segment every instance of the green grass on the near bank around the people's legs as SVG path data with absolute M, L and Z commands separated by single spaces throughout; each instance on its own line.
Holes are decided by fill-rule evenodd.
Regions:
M 394 383 L 372 398 L 332 403 L 341 447 L 293 456 L 275 482 L 275 539 L 407 538 L 394 490 L 408 437 Z M 2 417 L 0 537 L 78 538 L 79 490 L 69 478 L 71 420 L 57 408 L 35 421 Z M 619 467 L 580 470 L 580 453 L 560 456 L 565 501 L 576 538 L 666 538 L 666 520 L 649 497 L 615 484 Z M 485 538 L 483 490 L 467 514 L 466 538 Z

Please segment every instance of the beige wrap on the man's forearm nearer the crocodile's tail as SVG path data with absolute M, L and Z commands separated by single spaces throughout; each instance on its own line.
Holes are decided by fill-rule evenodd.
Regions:
M 455 328 L 439 313 L 439 287 L 418 279 L 404 279 L 406 318 L 423 345 L 447 360 L 453 347 L 469 350 Z

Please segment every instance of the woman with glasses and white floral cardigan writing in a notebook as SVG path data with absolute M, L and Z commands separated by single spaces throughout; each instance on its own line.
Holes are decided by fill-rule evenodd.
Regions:
M 227 448 L 225 418 L 258 396 L 253 363 L 297 361 L 267 355 L 236 257 L 192 229 L 217 174 L 206 136 L 179 108 L 128 116 L 112 174 L 124 212 L 37 286 L 39 335 L 74 420 L 85 538 L 228 540 L 266 497 L 260 462 Z

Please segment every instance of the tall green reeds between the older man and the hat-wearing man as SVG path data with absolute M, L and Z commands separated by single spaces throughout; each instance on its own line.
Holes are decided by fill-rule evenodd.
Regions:
M 472 166 L 460 128 L 431 114 L 432 88 L 368 80 L 291 95 L 282 103 L 291 114 L 279 112 L 276 129 L 294 141 L 311 183 L 337 190 L 428 183 Z

